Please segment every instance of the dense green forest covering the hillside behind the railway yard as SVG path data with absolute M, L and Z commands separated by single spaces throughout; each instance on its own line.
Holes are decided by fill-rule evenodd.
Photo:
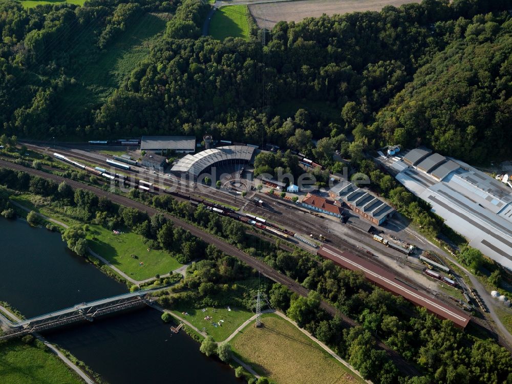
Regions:
M 209 6 L 200 0 L 33 9 L 2 0 L 0 133 L 208 131 L 285 146 L 300 129 L 345 152 L 350 142 L 421 143 L 472 162 L 504 158 L 512 136 L 510 3 L 424 0 L 281 22 L 263 47 L 257 31 L 248 41 L 201 37 Z M 73 95 L 95 85 L 79 80 L 84 68 L 142 15 L 163 12 L 172 17 L 150 54 L 104 98 L 76 102 Z

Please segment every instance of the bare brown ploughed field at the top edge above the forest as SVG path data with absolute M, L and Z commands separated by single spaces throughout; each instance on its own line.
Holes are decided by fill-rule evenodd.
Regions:
M 271 29 L 278 22 L 300 22 L 306 17 L 380 11 L 387 5 L 420 3 L 420 0 L 300 0 L 249 5 L 249 11 L 260 28 Z

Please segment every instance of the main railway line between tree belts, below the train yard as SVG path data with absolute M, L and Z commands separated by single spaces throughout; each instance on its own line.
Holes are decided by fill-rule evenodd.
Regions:
M 15 169 L 15 170 L 23 170 L 24 172 L 27 172 L 29 174 L 47 178 L 54 180 L 57 183 L 61 183 L 62 181 L 66 181 L 67 184 L 74 188 L 81 188 L 91 191 L 92 193 L 96 194 L 100 197 L 105 197 L 110 199 L 112 202 L 117 203 L 122 206 L 137 208 L 143 212 L 146 212 L 148 215 L 155 215 L 157 213 L 162 213 L 159 210 L 144 205 L 142 203 L 139 203 L 137 201 L 130 200 L 129 198 L 125 198 L 123 196 L 114 195 L 112 193 L 106 192 L 102 189 L 82 184 L 80 182 L 66 179 L 60 176 L 51 175 L 48 174 L 42 170 L 27 168 L 19 164 L 13 164 L 10 162 L 6 162 L 4 160 L 0 160 L 0 166 Z M 181 226 L 183 229 L 188 230 L 190 233 L 192 233 L 194 236 L 204 240 L 206 243 L 215 245 L 218 249 L 223 251 L 226 254 L 229 254 L 242 262 L 246 263 L 247 265 L 251 266 L 252 268 L 260 271 L 262 274 L 267 276 L 269 279 L 278 282 L 280 284 L 285 285 L 293 292 L 296 292 L 300 294 L 301 296 L 307 296 L 309 293 L 309 289 L 303 287 L 302 285 L 298 284 L 296 281 L 288 278 L 288 276 L 285 276 L 284 274 L 272 269 L 262 261 L 255 259 L 248 254 L 244 253 L 239 248 L 219 239 L 218 237 L 212 235 L 211 233 L 205 232 L 191 224 L 188 224 L 178 218 L 175 218 L 173 216 L 170 216 L 169 214 L 165 214 L 164 216 L 167 218 L 167 220 L 173 222 L 175 225 Z M 344 315 L 340 311 L 338 311 L 336 308 L 334 308 L 332 305 L 326 303 L 325 301 L 322 301 L 320 304 L 320 307 L 325 310 L 327 313 L 329 313 L 331 316 L 339 316 L 342 318 L 343 322 L 346 324 L 347 327 L 355 327 L 357 326 L 357 323 L 353 321 L 350 317 Z M 394 364 L 397 366 L 397 368 L 406 375 L 414 376 L 418 375 L 419 371 L 416 369 L 416 367 L 409 364 L 407 361 L 405 361 L 397 352 L 394 350 L 388 348 L 385 344 L 381 342 L 381 340 L 376 340 L 376 345 L 378 348 L 384 350 L 387 352 L 390 359 L 394 362 Z

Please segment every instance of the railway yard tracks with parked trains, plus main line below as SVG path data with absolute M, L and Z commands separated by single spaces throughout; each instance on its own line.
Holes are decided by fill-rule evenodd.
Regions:
M 136 160 L 128 159 L 130 162 L 123 161 L 123 158 L 119 156 L 116 156 L 115 159 L 109 158 L 108 155 L 100 152 L 86 151 L 84 147 L 64 148 L 39 144 L 26 145 L 35 152 L 52 156 L 74 167 L 82 168 L 86 172 L 95 174 L 102 178 L 103 184 L 114 185 L 113 182 L 117 181 L 119 185 L 124 184 L 126 187 L 139 188 L 148 193 L 171 194 L 176 199 L 189 201 L 194 205 L 204 203 L 208 209 L 220 215 L 229 216 L 247 225 L 252 225 L 254 230 L 248 230 L 250 234 L 270 242 L 275 242 L 276 238 L 282 238 L 290 243 L 288 245 L 286 242 L 280 242 L 282 249 L 292 250 L 293 246 L 298 246 L 313 254 L 318 252 L 322 257 L 326 257 L 326 252 L 342 252 L 354 255 L 356 258 L 364 260 L 365 263 L 375 266 L 377 270 L 385 271 L 388 277 L 394 276 L 394 279 L 396 279 L 395 283 L 400 285 L 400 289 L 407 289 L 409 294 L 412 292 L 413 295 L 421 295 L 423 297 L 422 300 L 434 303 L 430 307 L 428 305 L 426 307 L 438 316 L 440 313 L 436 312 L 436 308 L 442 307 L 444 312 L 452 311 L 455 313 L 452 317 L 440 316 L 451 318 L 452 320 L 456 318 L 458 319 L 458 325 L 462 327 L 471 318 L 473 324 L 485 328 L 500 344 L 512 351 L 505 339 L 487 321 L 485 314 L 475 317 L 470 316 L 467 312 L 463 312 L 463 310 L 469 309 L 477 312 L 480 310 L 482 312 L 487 311 L 478 292 L 473 288 L 466 287 L 464 282 L 457 275 L 454 275 L 454 272 L 446 267 L 443 261 L 435 255 L 422 253 L 421 249 L 416 249 L 412 254 L 409 254 L 410 252 L 404 252 L 403 248 L 390 247 L 388 240 L 383 240 L 383 236 L 393 238 L 396 232 L 393 232 L 394 234 L 386 234 L 380 231 L 379 234 L 382 234 L 382 236 L 366 233 L 360 229 L 342 224 L 339 219 L 313 213 L 300 205 L 258 193 L 254 188 L 248 191 L 245 199 L 241 198 L 240 192 L 234 189 L 207 188 L 205 193 L 205 186 L 198 186 L 195 182 L 183 180 L 171 174 L 150 172 Z M 57 182 L 65 180 L 44 170 L 26 168 L 3 160 L 0 161 L 0 166 L 23 169 L 26 172 L 50 178 Z M 48 170 L 55 170 L 55 168 L 51 167 L 46 168 Z M 117 172 L 117 169 L 119 169 L 119 172 Z M 238 170 L 233 172 L 233 177 L 239 177 L 239 175 Z M 155 208 L 103 189 L 68 179 L 66 179 L 66 182 L 73 187 L 92 190 L 98 196 L 108 197 L 118 204 L 138 208 L 149 215 L 157 212 Z M 255 202 L 254 198 L 258 202 Z M 307 295 L 308 290 L 306 288 L 273 270 L 263 262 L 250 257 L 240 249 L 177 218 L 168 216 L 168 219 L 189 230 L 204 241 L 215 244 L 222 251 L 239 258 L 268 276 L 268 278 L 286 285 L 298 294 Z M 441 290 L 431 288 L 437 286 L 436 282 L 461 289 L 465 301 L 451 297 Z M 379 285 L 378 283 L 375 284 Z M 404 296 L 407 296 L 407 294 Z M 322 307 L 331 315 L 339 315 L 339 312 L 328 303 L 323 302 Z M 352 319 L 343 315 L 342 317 L 347 326 L 355 325 Z M 467 321 L 465 320 L 466 318 Z M 404 371 L 408 369 L 414 370 L 414 368 L 404 363 L 399 356 L 394 356 L 394 352 L 387 349 L 385 345 L 380 343 L 379 346 L 387 350 L 390 356 L 398 362 L 398 366 L 401 366 Z

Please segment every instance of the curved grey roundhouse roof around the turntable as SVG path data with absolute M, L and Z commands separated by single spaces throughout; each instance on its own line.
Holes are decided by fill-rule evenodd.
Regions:
M 174 165 L 171 172 L 188 173 L 197 177 L 209 166 L 221 161 L 241 160 L 250 162 L 256 148 L 245 145 L 228 145 L 210 148 L 195 155 L 186 155 Z

